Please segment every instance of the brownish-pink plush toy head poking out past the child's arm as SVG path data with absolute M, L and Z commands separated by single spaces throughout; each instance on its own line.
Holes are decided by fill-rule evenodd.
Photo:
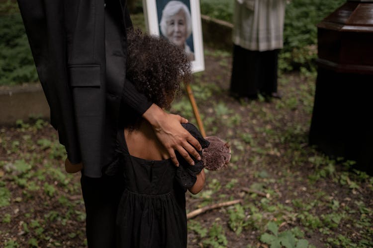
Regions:
M 210 145 L 202 149 L 202 162 L 209 171 L 218 171 L 227 167 L 231 159 L 231 149 L 228 143 L 216 136 L 205 137 Z

